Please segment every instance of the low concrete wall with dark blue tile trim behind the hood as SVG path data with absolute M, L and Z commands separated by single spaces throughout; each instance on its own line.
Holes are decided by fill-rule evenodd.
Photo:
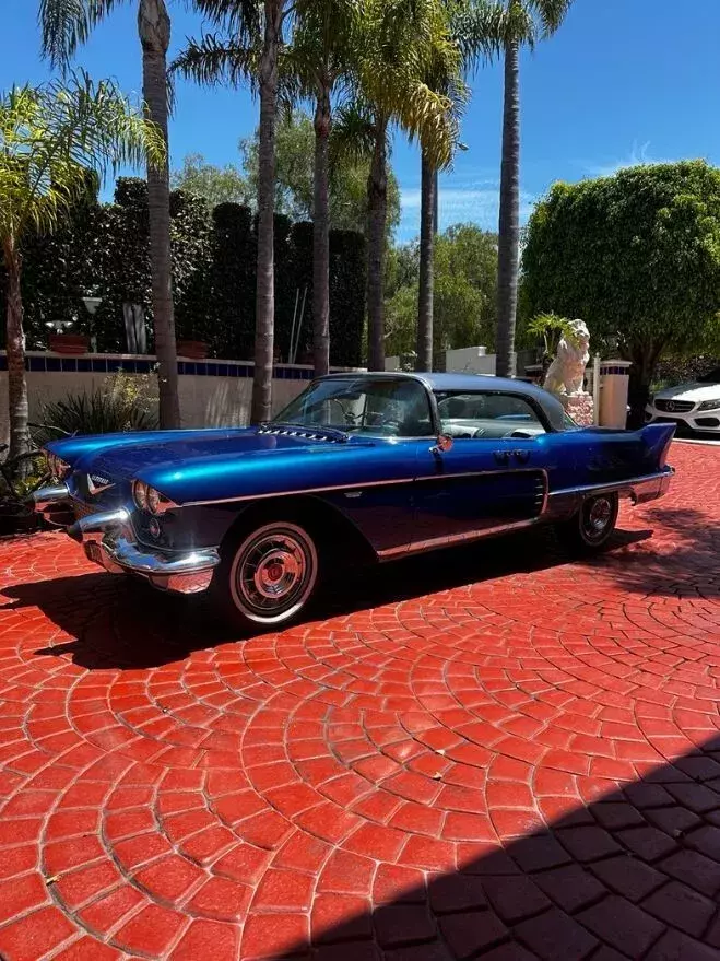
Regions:
M 42 420 L 43 405 L 62 400 L 69 394 L 103 388 L 118 371 L 129 376 L 147 376 L 154 358 L 131 354 L 84 354 L 79 358 L 28 352 L 27 390 L 31 420 Z M 178 361 L 182 425 L 211 427 L 247 424 L 252 396 L 252 363 L 248 361 Z M 275 367 L 273 412 L 282 410 L 312 377 L 303 364 Z M 156 389 L 156 388 L 155 388 Z M 8 438 L 8 373 L 4 351 L 0 352 L 0 437 Z

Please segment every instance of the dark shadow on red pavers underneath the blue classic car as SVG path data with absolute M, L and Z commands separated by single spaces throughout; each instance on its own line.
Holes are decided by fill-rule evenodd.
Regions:
M 621 552 L 622 567 L 626 563 L 623 548 L 650 536 L 649 530 L 618 530 L 611 549 L 592 563 L 605 564 L 609 556 Z M 543 571 L 569 560 L 552 531 L 539 528 L 392 564 L 349 570 L 332 577 L 312 614 L 322 619 L 346 616 L 511 574 Z M 88 670 L 160 667 L 193 651 L 238 640 L 219 622 L 206 597 L 165 595 L 130 577 L 80 574 L 14 584 L 3 590 L 13 599 L 3 610 L 37 607 L 72 635 L 72 640 L 37 654 L 71 655 Z

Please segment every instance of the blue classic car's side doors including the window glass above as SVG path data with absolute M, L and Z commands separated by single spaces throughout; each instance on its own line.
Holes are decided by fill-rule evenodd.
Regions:
M 464 409 L 444 407 L 447 400 L 462 400 Z M 500 392 L 465 394 L 441 398 L 438 410 L 452 445 L 418 449 L 412 548 L 461 541 L 536 518 L 547 496 L 547 450 L 545 426 L 528 401 Z

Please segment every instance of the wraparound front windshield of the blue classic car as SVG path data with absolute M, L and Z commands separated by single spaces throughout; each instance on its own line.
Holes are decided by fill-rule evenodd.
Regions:
M 317 380 L 273 423 L 334 427 L 375 437 L 429 437 L 430 407 L 422 384 L 410 378 L 333 377 Z

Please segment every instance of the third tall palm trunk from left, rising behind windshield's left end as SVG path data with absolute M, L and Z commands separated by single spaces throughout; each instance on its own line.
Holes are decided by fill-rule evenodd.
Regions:
M 312 350 L 315 376 L 330 370 L 330 216 L 328 138 L 330 91 L 321 84 L 315 108 L 315 202 L 312 210 Z

